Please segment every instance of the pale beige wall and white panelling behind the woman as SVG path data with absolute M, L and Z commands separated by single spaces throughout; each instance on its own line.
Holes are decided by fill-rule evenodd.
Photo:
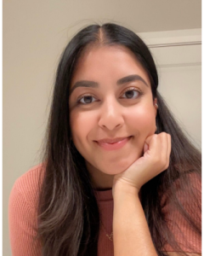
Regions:
M 133 4 L 136 2 L 133 1 Z M 44 1 L 39 3 L 37 1 L 32 3 L 4 1 L 3 3 L 3 255 L 7 256 L 11 255 L 8 241 L 8 196 L 16 178 L 39 161 L 54 72 L 59 54 L 67 40 L 79 28 L 94 21 L 115 20 L 124 26 L 131 27 L 135 32 L 143 31 L 139 25 L 141 17 L 138 19 L 135 15 L 136 11 L 139 15 L 138 6 L 134 6 L 134 15 L 129 15 L 132 8 L 125 5 L 126 1 L 124 3 L 119 1 L 116 13 L 114 12 L 116 2 L 105 2 L 106 7 L 109 4 L 109 8 L 105 8 L 102 3 L 98 6 L 93 5 L 95 11 L 90 10 L 91 1 L 67 1 L 67 3 L 64 1 L 61 5 L 46 4 Z M 144 1 L 144 3 L 147 2 Z M 181 2 L 177 0 L 176 3 Z M 194 9 L 192 8 L 192 11 Z M 151 18 L 150 10 L 146 9 L 146 12 Z M 157 20 L 158 26 L 160 21 Z M 152 22 L 150 20 L 146 22 L 149 22 L 152 31 Z M 170 29 L 170 25 L 162 27 L 158 30 Z M 175 27 L 176 24 L 175 30 L 182 28 L 179 22 L 178 27 Z M 192 27 L 189 25 L 189 28 Z M 147 27 L 144 31 L 148 31 Z M 180 39 L 181 41 L 189 39 L 192 41 L 195 37 L 201 36 L 201 30 L 179 31 L 178 33 L 162 32 L 161 34 L 144 33 L 142 36 L 147 44 L 156 44 L 164 43 L 165 40 L 173 42 L 175 38 L 178 40 L 178 35 L 182 33 L 184 37 Z M 185 39 L 188 34 L 191 37 Z M 195 52 L 195 49 L 191 51 Z M 201 49 L 196 49 L 198 57 L 191 61 L 188 67 L 184 63 L 187 63 L 189 59 L 180 59 L 179 67 L 177 67 L 175 59 L 171 63 L 168 62 L 172 55 L 160 54 L 156 49 L 152 49 L 152 52 L 159 62 L 162 94 L 167 99 L 170 108 L 185 124 L 190 135 L 194 137 L 195 144 L 200 147 L 201 60 L 199 55 L 201 55 Z M 165 60 L 162 59 L 162 55 L 166 55 Z M 165 65 L 170 66 L 165 67 Z M 188 81 L 194 78 L 192 82 L 194 85 L 191 86 L 191 83 L 191 87 L 188 85 L 184 88 L 186 82 L 184 82 L 184 73 L 186 72 L 189 74 Z M 176 76 L 177 78 L 179 76 L 179 87 L 175 87 L 176 84 L 170 80 Z M 174 84 L 173 90 L 169 90 L 171 84 Z

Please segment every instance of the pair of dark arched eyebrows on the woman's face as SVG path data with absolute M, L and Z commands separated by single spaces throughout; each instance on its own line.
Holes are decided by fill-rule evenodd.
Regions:
M 133 82 L 133 81 L 141 81 L 143 82 L 146 86 L 148 86 L 148 84 L 144 81 L 143 78 L 141 78 L 139 75 L 137 74 L 133 74 L 133 75 L 129 75 L 127 77 L 124 77 L 122 79 L 117 80 L 116 84 L 117 85 L 122 85 L 122 84 L 126 84 L 129 82 Z M 70 91 L 70 95 L 73 92 L 73 90 L 75 90 L 77 87 L 92 87 L 92 88 L 99 88 L 99 84 L 97 82 L 94 81 L 88 81 L 88 80 L 82 80 L 82 81 L 77 81 L 73 87 L 71 88 Z

